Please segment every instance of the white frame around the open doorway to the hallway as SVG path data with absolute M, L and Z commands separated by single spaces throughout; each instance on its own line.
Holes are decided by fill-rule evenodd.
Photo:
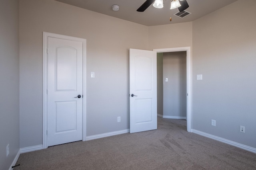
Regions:
M 177 51 L 186 51 L 186 69 L 187 69 L 187 131 L 191 132 L 191 122 L 192 122 L 192 60 L 191 60 L 191 51 L 190 47 L 177 47 L 177 48 L 167 48 L 167 49 L 153 49 L 157 53 L 166 53 L 166 52 L 177 52 Z

